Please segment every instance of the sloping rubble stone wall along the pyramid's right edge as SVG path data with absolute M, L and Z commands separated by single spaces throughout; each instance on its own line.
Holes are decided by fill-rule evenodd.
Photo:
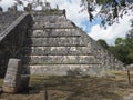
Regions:
M 101 62 L 106 70 L 125 70 L 124 63 L 116 59 L 110 51 L 105 50 L 95 40 L 89 37 L 85 32 L 79 29 L 82 33 L 82 39 L 85 39 L 88 47 L 91 48 L 91 53 Z

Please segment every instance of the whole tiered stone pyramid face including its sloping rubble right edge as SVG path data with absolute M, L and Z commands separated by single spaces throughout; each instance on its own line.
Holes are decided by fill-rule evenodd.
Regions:
M 21 20 L 21 31 L 14 30 L 18 24 L 12 28 L 23 36 L 21 44 L 13 46 L 19 46 L 14 57 L 22 60 L 25 73 L 64 76 L 79 69 L 84 74 L 102 74 L 104 70 L 123 70 L 123 63 L 68 20 L 64 10 L 32 11 Z M 7 34 L 16 36 L 11 31 Z M 9 40 L 7 36 L 0 38 L 1 44 Z

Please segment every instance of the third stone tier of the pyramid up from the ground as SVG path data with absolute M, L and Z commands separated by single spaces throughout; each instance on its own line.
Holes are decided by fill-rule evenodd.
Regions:
M 21 54 L 31 56 L 88 56 L 91 48 L 88 47 L 23 47 Z

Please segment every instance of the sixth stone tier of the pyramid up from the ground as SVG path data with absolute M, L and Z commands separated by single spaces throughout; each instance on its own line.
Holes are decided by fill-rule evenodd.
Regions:
M 33 29 L 44 29 L 44 28 L 74 28 L 71 22 L 68 21 L 60 21 L 60 22 L 43 22 L 43 21 L 37 21 L 33 24 Z

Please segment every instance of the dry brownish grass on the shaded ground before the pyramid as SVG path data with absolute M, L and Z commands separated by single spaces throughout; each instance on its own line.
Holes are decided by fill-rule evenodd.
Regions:
M 0 99 L 44 100 L 44 86 L 47 86 L 49 100 L 121 100 L 124 96 L 133 93 L 133 84 L 129 84 L 126 72 L 111 71 L 110 73 L 115 77 L 31 76 L 29 91 L 17 94 L 2 93 Z M 131 80 L 133 81 L 133 72 L 131 72 Z

